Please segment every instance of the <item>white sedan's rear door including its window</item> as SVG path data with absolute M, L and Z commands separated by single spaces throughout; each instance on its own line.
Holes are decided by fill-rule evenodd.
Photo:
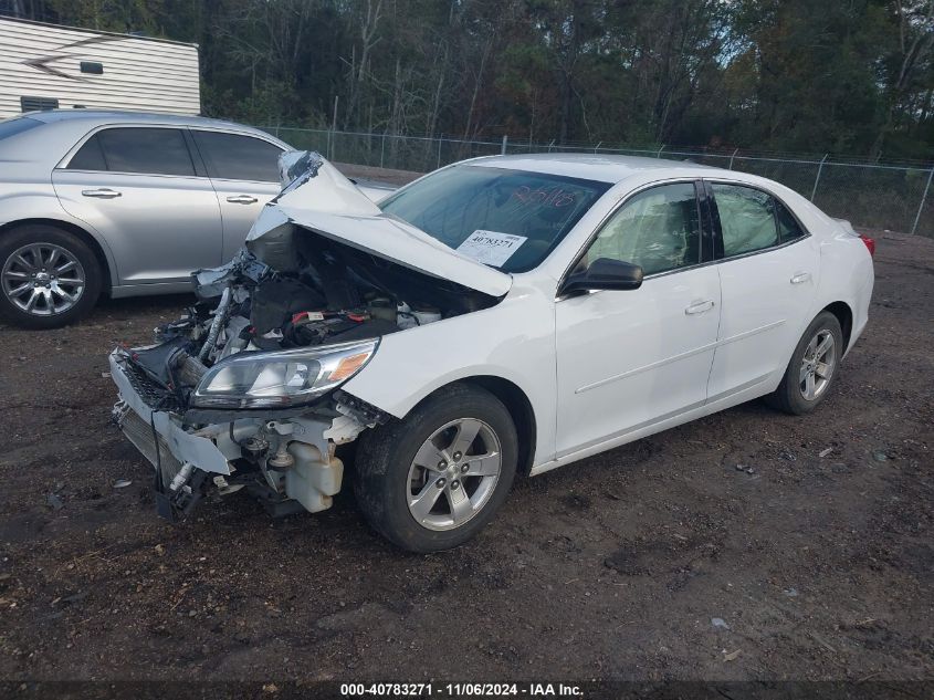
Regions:
M 817 241 L 763 190 L 709 184 L 723 309 L 709 400 L 784 373 L 810 322 L 820 272 Z

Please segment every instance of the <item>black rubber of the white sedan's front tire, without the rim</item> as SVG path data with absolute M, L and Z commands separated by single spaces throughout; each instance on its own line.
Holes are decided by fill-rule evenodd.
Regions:
M 449 422 L 466 418 L 482 421 L 499 439 L 500 476 L 485 504 L 466 522 L 450 530 L 432 530 L 418 522 L 409 510 L 409 470 L 431 436 Z M 517 455 L 515 425 L 502 401 L 482 388 L 453 384 L 424 400 L 403 420 L 360 436 L 354 491 L 367 522 L 393 544 L 423 554 L 450 550 L 473 537 L 493 519 L 512 487 Z M 462 461 L 466 459 L 465 455 Z

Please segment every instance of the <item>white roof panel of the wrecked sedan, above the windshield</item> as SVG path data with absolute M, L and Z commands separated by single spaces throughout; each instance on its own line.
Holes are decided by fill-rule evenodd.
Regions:
M 564 177 L 598 180 L 613 185 L 633 175 L 651 170 L 676 169 L 683 171 L 684 169 L 697 169 L 705 174 L 722 170 L 722 168 L 713 168 L 688 160 L 592 153 L 534 153 L 514 156 L 485 156 L 474 158 L 469 163 L 472 165 L 483 165 L 484 167 L 508 168 L 528 173 L 547 173 Z

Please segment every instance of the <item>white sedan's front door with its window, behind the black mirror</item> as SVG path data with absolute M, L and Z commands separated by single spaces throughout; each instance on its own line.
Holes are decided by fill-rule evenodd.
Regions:
M 642 286 L 559 299 L 558 457 L 702 406 L 720 317 L 703 265 L 693 182 L 644 190 L 601 228 L 576 270 L 600 258 L 642 267 Z

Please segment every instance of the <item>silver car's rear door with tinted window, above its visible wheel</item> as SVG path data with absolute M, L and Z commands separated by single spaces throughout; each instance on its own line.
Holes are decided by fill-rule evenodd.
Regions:
M 119 284 L 183 282 L 222 262 L 217 196 L 182 129 L 102 129 L 52 182 L 65 211 L 106 240 Z

